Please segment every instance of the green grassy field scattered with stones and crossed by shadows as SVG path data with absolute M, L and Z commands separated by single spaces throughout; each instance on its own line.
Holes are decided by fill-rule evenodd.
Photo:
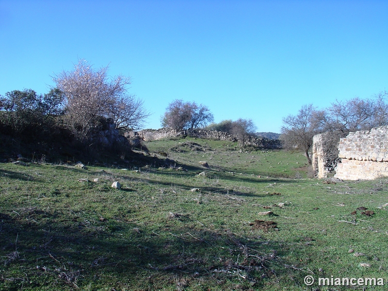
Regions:
M 388 284 L 386 179 L 310 179 L 301 154 L 226 141 L 146 146 L 142 167 L 0 164 L 0 290 L 388 290 L 304 283 Z

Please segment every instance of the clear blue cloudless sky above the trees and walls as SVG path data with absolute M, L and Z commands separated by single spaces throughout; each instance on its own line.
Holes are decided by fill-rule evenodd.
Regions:
M 388 86 L 388 1 L 0 0 L 0 95 L 78 59 L 132 78 L 158 129 L 174 99 L 279 132 L 304 104 Z

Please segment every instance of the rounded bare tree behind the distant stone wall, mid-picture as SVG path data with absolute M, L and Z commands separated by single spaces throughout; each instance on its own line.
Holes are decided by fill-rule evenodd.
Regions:
M 214 120 L 209 108 L 195 102 L 174 100 L 162 116 L 162 126 L 177 130 L 205 127 Z

